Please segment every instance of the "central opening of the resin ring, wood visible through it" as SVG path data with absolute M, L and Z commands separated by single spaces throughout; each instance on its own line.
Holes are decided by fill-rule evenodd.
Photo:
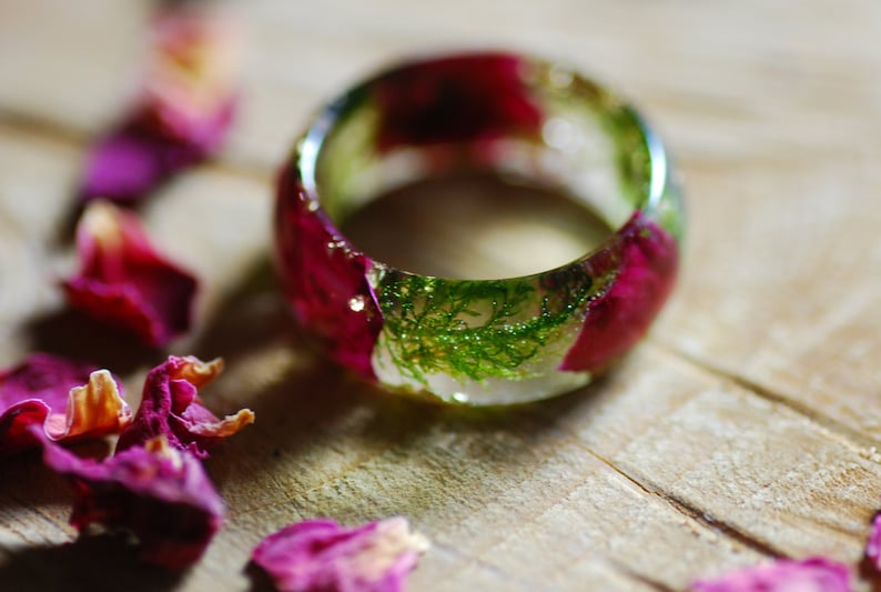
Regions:
M 556 189 L 494 171 L 458 171 L 383 192 L 345 220 L 371 258 L 460 279 L 538 273 L 599 245 L 609 225 Z

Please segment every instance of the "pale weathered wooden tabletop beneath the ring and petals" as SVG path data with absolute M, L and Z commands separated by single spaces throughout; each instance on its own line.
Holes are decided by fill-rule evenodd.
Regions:
M 180 576 L 105 538 L 65 545 L 63 482 L 37 455 L 4 459 L 0 588 L 245 590 L 257 540 L 318 515 L 409 516 L 434 543 L 415 591 L 679 590 L 778 555 L 860 564 L 881 509 L 881 3 L 514 4 L 235 4 L 235 137 L 144 210 L 204 279 L 198 330 L 170 351 L 224 357 L 206 400 L 257 415 L 207 462 L 227 525 Z M 83 149 L 132 88 L 149 8 L 0 2 L 0 364 L 85 355 L 135 398 L 164 353 L 67 312 L 57 279 Z M 387 398 L 310 353 L 267 258 L 273 169 L 323 99 L 392 58 L 483 46 L 635 98 L 690 210 L 650 339 L 583 392 L 492 413 Z

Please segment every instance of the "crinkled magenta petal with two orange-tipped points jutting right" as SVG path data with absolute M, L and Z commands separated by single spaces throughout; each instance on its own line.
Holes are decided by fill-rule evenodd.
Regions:
M 253 423 L 254 413 L 243 409 L 223 420 L 209 411 L 198 391 L 223 370 L 223 360 L 169 357 L 148 374 L 141 407 L 134 421 L 120 434 L 117 452 L 162 435 L 178 449 L 188 448 L 200 458 L 222 440 Z

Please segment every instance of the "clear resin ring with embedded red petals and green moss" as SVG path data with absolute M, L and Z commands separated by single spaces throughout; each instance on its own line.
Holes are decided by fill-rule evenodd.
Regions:
M 541 273 L 463 280 L 374 261 L 338 230 L 384 191 L 474 170 L 565 192 L 609 235 Z M 682 230 L 665 150 L 632 108 L 497 52 L 408 62 L 340 97 L 297 142 L 275 213 L 284 294 L 307 335 L 383 387 L 470 404 L 566 392 L 617 360 L 667 299 Z

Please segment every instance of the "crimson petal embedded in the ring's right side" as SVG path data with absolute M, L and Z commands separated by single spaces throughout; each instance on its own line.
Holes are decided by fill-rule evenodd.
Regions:
M 591 257 L 588 264 L 596 278 L 607 273 L 617 277 L 588 305 L 578 339 L 560 370 L 601 370 L 646 333 L 672 289 L 677 245 L 664 229 L 636 212 L 614 242 Z

